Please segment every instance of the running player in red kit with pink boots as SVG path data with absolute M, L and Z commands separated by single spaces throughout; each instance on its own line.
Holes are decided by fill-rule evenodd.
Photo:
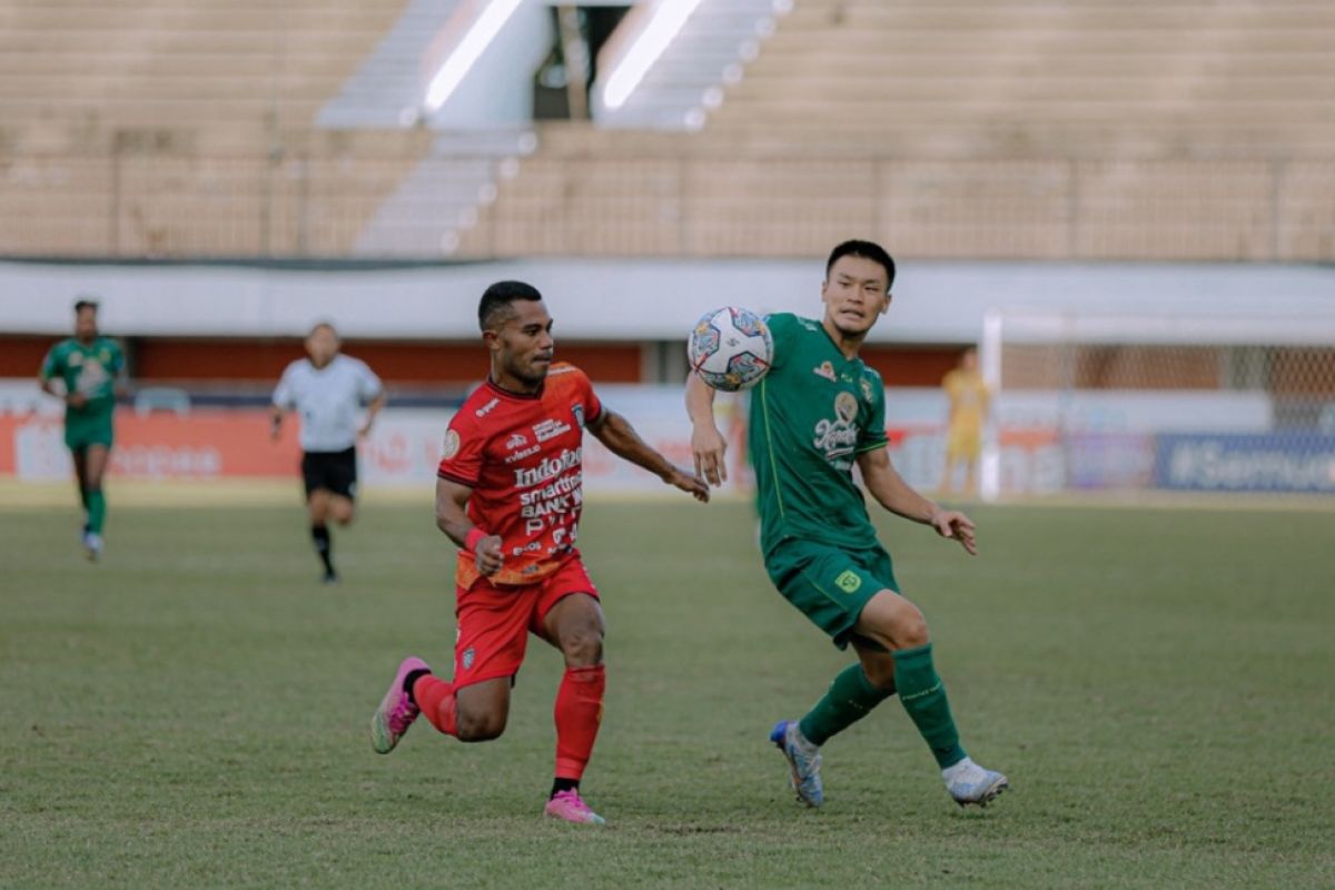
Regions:
M 555 703 L 555 782 L 545 811 L 602 825 L 579 797 L 606 683 L 598 591 L 574 546 L 583 431 L 697 500 L 709 500 L 709 487 L 605 408 L 579 368 L 553 364 L 551 316 L 535 288 L 493 284 L 482 295 L 478 323 L 491 372 L 450 420 L 435 488 L 437 526 L 463 548 L 454 681 L 435 677 L 421 658 L 403 659 L 371 718 L 371 739 L 388 754 L 418 714 L 461 742 L 498 738 L 527 635 L 535 634 L 566 660 Z

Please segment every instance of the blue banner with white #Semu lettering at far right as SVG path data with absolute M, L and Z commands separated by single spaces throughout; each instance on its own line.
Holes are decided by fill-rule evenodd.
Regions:
M 1161 435 L 1155 484 L 1335 494 L 1335 435 Z

